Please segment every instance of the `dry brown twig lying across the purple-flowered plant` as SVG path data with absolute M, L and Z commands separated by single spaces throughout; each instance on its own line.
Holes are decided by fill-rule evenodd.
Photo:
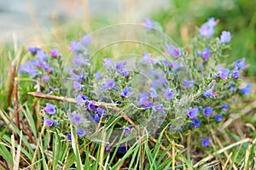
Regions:
M 57 100 L 57 101 L 63 101 L 63 102 L 68 102 L 68 103 L 73 103 L 76 104 L 77 100 L 73 99 L 73 98 L 67 98 L 67 97 L 63 97 L 63 96 L 55 96 L 55 95 L 50 95 L 50 94 L 40 94 L 40 93 L 36 93 L 36 92 L 29 92 L 27 94 L 30 94 L 36 98 L 42 98 L 42 99 L 53 99 L 53 100 Z M 90 100 L 88 100 L 88 102 L 91 102 Z M 104 103 L 104 102 L 96 102 L 95 105 L 97 106 L 104 106 L 107 108 L 111 108 L 114 111 L 119 111 L 119 108 L 117 107 L 117 104 L 110 104 L 110 103 Z M 129 122 L 134 128 L 137 127 L 137 125 L 130 119 L 129 116 L 126 116 L 125 113 L 123 111 L 119 111 L 119 114 L 121 114 L 123 116 L 123 118 L 125 119 L 125 121 Z M 154 139 L 153 137 L 149 137 L 149 140 L 154 142 L 154 144 L 157 143 L 157 139 Z M 160 148 L 161 150 L 166 150 L 166 147 L 163 144 L 160 144 Z M 172 154 L 167 151 L 166 155 L 168 157 L 172 157 Z

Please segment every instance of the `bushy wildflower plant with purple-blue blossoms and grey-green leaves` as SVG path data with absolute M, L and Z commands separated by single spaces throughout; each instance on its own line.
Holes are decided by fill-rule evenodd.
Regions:
M 164 56 L 140 51 L 141 56 L 136 61 L 102 58 L 101 70 L 94 67 L 95 63 L 90 58 L 89 47 L 93 39 L 84 35 L 80 42 L 72 41 L 69 49 L 74 55 L 73 65 L 69 66 L 65 76 L 66 81 L 72 84 L 66 87 L 67 95 L 75 98 L 77 104 L 68 105 L 64 111 L 46 104 L 43 109 L 45 125 L 60 127 L 61 130 L 58 123 L 63 120 L 61 113 L 65 112 L 70 123 L 76 127 L 76 133 L 83 138 L 90 133 L 91 124 L 94 127 L 97 123 L 102 126 L 111 124 L 112 116 L 119 114 L 113 109 L 96 105 L 97 102 L 105 102 L 117 105 L 137 125 L 144 126 L 150 122 L 150 130 L 157 131 L 168 126 L 167 133 L 173 139 L 176 139 L 174 136 L 177 133 L 186 134 L 190 130 L 207 136 L 207 127 L 219 126 L 229 117 L 232 110 L 229 99 L 236 94 L 247 96 L 251 90 L 251 84 L 245 87 L 240 85 L 242 72 L 247 69 L 245 58 L 231 65 L 219 63 L 226 55 L 231 35 L 229 31 L 222 31 L 219 37 L 214 38 L 217 25 L 218 21 L 210 18 L 199 28 L 195 38 L 189 42 L 190 53 L 165 42 Z M 146 19 L 143 26 L 150 32 L 159 25 Z M 44 88 L 48 88 L 46 93 L 58 92 L 59 82 L 51 81 L 53 77 L 58 77 L 56 70 L 61 67 L 58 50 L 54 48 L 50 52 L 51 57 L 40 48 L 28 50 L 37 59 L 20 66 L 20 73 L 39 78 Z M 136 130 L 121 119 L 113 126 L 124 130 L 125 135 Z M 71 139 L 70 132 L 66 130 L 63 133 Z M 201 145 L 207 146 L 210 141 L 209 137 L 202 139 Z

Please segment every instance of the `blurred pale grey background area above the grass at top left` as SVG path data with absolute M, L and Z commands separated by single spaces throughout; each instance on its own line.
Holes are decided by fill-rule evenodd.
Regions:
M 0 43 L 27 41 L 39 28 L 47 32 L 54 20 L 67 24 L 74 20 L 105 18 L 113 23 L 141 22 L 168 1 L 158 0 L 0 0 Z

